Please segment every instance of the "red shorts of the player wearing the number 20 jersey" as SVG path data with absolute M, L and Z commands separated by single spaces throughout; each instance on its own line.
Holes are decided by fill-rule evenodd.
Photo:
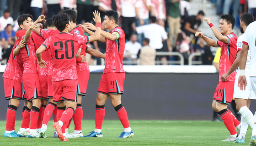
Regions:
M 77 80 L 53 81 L 53 101 L 77 102 Z

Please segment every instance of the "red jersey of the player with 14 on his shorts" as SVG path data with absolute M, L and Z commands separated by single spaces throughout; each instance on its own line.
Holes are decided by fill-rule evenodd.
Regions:
M 229 35 L 226 35 L 229 39 L 228 44 L 225 44 L 221 41 L 217 41 L 217 44 L 221 47 L 220 51 L 220 60 L 219 60 L 219 81 L 220 77 L 228 72 L 229 68 L 232 66 L 235 61 L 236 53 L 237 53 L 237 37 L 232 32 Z M 228 77 L 227 81 L 235 81 L 236 72 L 232 72 Z

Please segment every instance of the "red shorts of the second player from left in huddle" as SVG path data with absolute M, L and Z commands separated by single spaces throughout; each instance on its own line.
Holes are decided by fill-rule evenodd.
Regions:
M 38 74 L 23 74 L 23 86 L 27 101 L 32 102 L 35 98 L 43 98 Z

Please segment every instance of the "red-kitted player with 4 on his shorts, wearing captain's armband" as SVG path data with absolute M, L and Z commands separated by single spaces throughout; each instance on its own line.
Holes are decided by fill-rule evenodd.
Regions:
M 95 130 L 85 137 L 102 137 L 101 127 L 105 116 L 105 102 L 109 97 L 117 111 L 119 120 L 123 124 L 124 132 L 120 138 L 133 137 L 133 131 L 129 125 L 128 116 L 125 108 L 121 103 L 121 94 L 123 94 L 123 81 L 125 72 L 123 70 L 123 52 L 125 45 L 125 34 L 118 23 L 118 13 L 113 10 L 104 12 L 105 29 L 110 32 L 101 30 L 100 41 L 107 41 L 105 69 L 101 76 L 98 95 L 96 98 L 96 113 L 95 113 Z M 82 28 L 84 28 L 82 26 Z M 85 28 L 96 30 L 96 27 L 91 23 L 86 23 Z M 84 29 L 85 30 L 85 29 Z

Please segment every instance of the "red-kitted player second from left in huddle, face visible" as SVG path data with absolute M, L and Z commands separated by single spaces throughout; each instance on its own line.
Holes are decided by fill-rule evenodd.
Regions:
M 37 21 L 33 23 L 32 15 L 21 15 L 18 18 L 18 24 L 22 30 L 27 30 L 26 34 L 21 37 L 24 40 L 25 47 L 19 49 L 16 47 L 13 50 L 14 55 L 18 55 L 21 52 L 21 58 L 23 61 L 23 85 L 25 94 L 27 96 L 27 111 L 24 112 L 21 128 L 17 133 L 19 137 L 39 137 L 39 133 L 36 131 L 37 121 L 39 117 L 39 111 L 41 107 L 42 91 L 37 74 L 37 60 L 36 60 L 36 50 L 33 40 L 30 38 L 32 30 L 37 27 Z M 30 113 L 30 131 L 27 133 L 26 128 L 29 124 L 29 111 Z

